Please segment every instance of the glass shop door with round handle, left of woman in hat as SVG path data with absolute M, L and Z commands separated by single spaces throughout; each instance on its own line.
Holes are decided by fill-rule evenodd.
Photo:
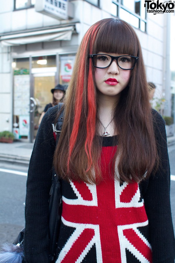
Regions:
M 54 70 L 55 71 L 55 70 Z M 32 75 L 33 91 L 30 97 L 30 142 L 36 138 L 38 121 L 48 103 L 52 102 L 51 89 L 55 87 L 55 72 Z

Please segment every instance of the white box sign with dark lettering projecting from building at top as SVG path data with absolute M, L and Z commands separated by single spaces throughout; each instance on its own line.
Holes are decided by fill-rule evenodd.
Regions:
M 67 20 L 68 0 L 36 0 L 35 10 L 59 20 Z

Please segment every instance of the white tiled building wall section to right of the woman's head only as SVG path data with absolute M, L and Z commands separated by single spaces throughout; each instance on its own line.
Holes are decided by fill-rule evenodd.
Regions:
M 147 32 L 136 30 L 139 36 L 143 58 L 146 66 L 148 82 L 156 85 L 156 97 L 163 91 L 163 46 L 164 46 L 164 16 L 147 14 Z

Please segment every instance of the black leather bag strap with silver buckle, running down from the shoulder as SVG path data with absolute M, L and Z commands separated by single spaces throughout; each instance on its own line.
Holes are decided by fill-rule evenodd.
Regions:
M 63 103 L 58 104 L 58 111 L 62 107 Z M 62 124 L 63 124 L 63 115 L 64 110 L 60 113 L 58 117 L 57 124 L 55 126 L 55 132 L 57 132 L 56 144 L 58 143 Z M 60 178 L 57 176 L 53 169 L 52 176 L 52 186 L 50 189 L 50 198 L 49 198 L 49 252 L 50 252 L 50 261 L 55 260 L 55 250 L 57 247 L 60 221 L 61 221 L 61 212 L 62 212 L 62 196 L 61 196 L 61 182 Z

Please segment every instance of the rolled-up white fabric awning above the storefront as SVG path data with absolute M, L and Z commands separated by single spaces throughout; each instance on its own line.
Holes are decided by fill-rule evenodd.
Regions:
M 49 42 L 56 40 L 71 40 L 74 26 L 60 27 L 33 32 L 25 32 L 1 36 L 0 41 L 3 46 L 19 46 L 36 42 Z

